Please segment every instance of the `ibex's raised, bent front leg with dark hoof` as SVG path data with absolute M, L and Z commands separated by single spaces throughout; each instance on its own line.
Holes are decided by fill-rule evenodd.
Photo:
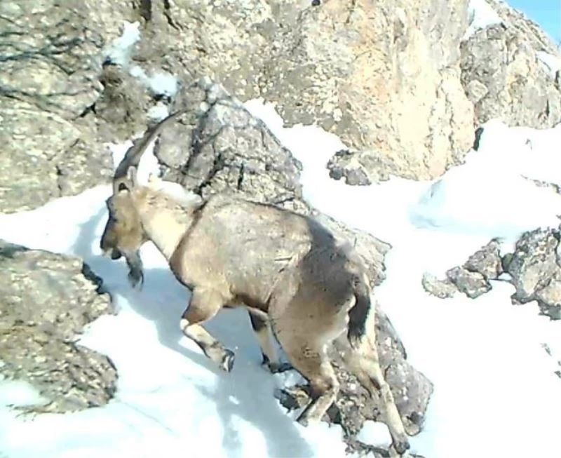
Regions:
M 180 325 L 184 335 L 201 347 L 208 358 L 222 370 L 230 372 L 234 367 L 234 351 L 227 349 L 202 326 L 224 307 L 225 302 L 224 296 L 216 290 L 194 288 Z

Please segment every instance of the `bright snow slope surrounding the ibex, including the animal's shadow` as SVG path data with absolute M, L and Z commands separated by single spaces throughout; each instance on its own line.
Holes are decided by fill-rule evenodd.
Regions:
M 435 384 L 426 429 L 412 438 L 412 450 L 426 458 L 555 456 L 561 381 L 553 373 L 556 359 L 541 344 L 561 358 L 561 323 L 538 316 L 535 304 L 513 307 L 506 283 L 495 282 L 477 300 L 440 300 L 422 290 L 421 275 L 461 264 L 492 236 L 508 243 L 522 230 L 557 222 L 560 197 L 527 186 L 520 174 L 561 181 L 553 154 L 560 128 L 490 122 L 480 150 L 437 182 L 392 179 L 349 187 L 331 180 L 325 168 L 344 147 L 337 137 L 315 126 L 283 128 L 273 107 L 259 100 L 246 107 L 302 161 L 304 197 L 313 206 L 393 245 L 377 298 L 410 361 Z M 119 160 L 126 146 L 114 145 L 109 153 Z M 140 178 L 153 167 L 147 154 Z M 36 393 L 25 384 L 0 383 L 0 456 L 343 457 L 338 426 L 302 428 L 292 421 L 297 412 L 288 415 L 273 398 L 276 386 L 299 376 L 273 376 L 259 367 L 259 346 L 243 311 L 223 311 L 208 325 L 236 351 L 233 372 L 224 374 L 182 336 L 178 321 L 189 292 L 152 245 L 142 249 L 141 292 L 128 286 L 123 262 L 100 256 L 109 192 L 95 187 L 33 211 L 0 215 L 0 238 L 83 257 L 104 278 L 119 310 L 92 323 L 81 338 L 116 364 L 116 398 L 103 408 L 31 420 L 5 406 L 34 403 Z M 361 438 L 386 443 L 387 433 L 369 424 Z

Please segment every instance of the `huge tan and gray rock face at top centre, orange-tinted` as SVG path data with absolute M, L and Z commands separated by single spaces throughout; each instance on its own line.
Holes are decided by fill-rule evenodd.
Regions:
M 361 151 L 372 182 L 431 178 L 473 142 L 459 81 L 467 4 L 142 2 L 137 58 L 186 83 L 210 75 L 241 100 L 274 101 L 289 126 L 317 123 Z

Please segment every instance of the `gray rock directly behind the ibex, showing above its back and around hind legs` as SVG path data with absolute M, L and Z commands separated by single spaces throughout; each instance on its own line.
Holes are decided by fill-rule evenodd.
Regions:
M 229 191 L 316 217 L 337 238 L 345 238 L 356 246 L 367 262 L 372 285 L 384 280 L 384 255 L 390 245 L 370 234 L 351 230 L 302 201 L 299 163 L 241 102 L 217 83 L 201 79 L 187 88 L 184 98 L 177 103 L 189 110 L 163 130 L 156 147 L 166 179 L 180 182 L 203 198 L 217 191 Z M 407 362 L 403 344 L 379 308 L 376 317 L 381 363 L 407 431 L 416 434 L 424 422 L 432 384 Z M 365 419 L 378 418 L 379 400 L 369 398 L 345 370 L 339 368 L 337 372 L 342 380 L 337 418 L 352 434 Z M 290 405 L 299 402 L 295 398 L 284 399 Z

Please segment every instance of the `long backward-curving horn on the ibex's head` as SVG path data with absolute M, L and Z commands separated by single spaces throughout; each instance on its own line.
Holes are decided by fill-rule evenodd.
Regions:
M 144 151 L 146 151 L 148 145 L 168 123 L 186 111 L 187 109 L 180 109 L 177 112 L 170 114 L 158 122 L 155 126 L 149 128 L 141 138 L 133 140 L 133 146 L 127 150 L 123 160 L 115 169 L 115 173 L 113 175 L 113 194 L 119 192 L 121 186 L 131 189 L 136 185 L 138 164 L 140 163 L 140 158 L 142 157 L 142 154 L 144 154 Z

